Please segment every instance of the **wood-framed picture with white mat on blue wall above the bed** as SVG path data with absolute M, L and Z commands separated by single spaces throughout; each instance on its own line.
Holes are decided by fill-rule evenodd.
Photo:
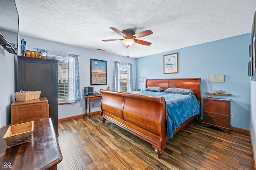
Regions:
M 164 55 L 164 74 L 178 73 L 178 53 Z

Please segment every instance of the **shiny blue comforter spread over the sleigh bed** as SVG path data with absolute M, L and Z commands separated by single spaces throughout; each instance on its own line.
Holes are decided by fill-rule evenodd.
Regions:
M 129 93 L 164 97 L 167 109 L 167 138 L 173 137 L 172 131 L 180 127 L 181 123 L 200 112 L 198 100 L 190 95 L 152 91 L 132 91 Z

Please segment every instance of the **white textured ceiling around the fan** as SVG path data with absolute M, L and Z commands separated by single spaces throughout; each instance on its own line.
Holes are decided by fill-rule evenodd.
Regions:
M 127 56 L 123 37 L 110 29 L 154 34 L 134 43 L 143 57 L 251 31 L 255 0 L 15 0 L 22 35 Z M 51 49 L 54 51 L 54 49 Z M 60 51 L 61 52 L 61 51 Z

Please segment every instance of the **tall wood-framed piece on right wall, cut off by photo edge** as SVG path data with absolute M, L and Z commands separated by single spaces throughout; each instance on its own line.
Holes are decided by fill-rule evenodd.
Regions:
M 254 13 L 254 20 L 252 23 L 252 32 L 251 32 L 251 43 L 250 43 L 250 56 L 251 56 L 251 80 L 255 81 L 255 36 L 256 36 L 256 12 Z

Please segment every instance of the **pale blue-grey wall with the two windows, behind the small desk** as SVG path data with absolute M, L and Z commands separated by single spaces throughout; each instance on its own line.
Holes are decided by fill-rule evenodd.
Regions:
M 80 91 L 81 91 L 81 102 L 67 105 L 59 105 L 59 119 L 72 117 L 76 115 L 82 115 L 85 113 L 85 100 L 82 95 L 84 95 L 84 87 L 90 85 L 90 59 L 100 59 L 107 61 L 107 85 L 92 85 L 94 91 L 99 91 L 100 89 L 107 89 L 110 85 L 112 89 L 113 82 L 113 67 L 114 61 L 120 61 L 121 63 L 132 63 L 134 67 L 134 77 L 135 77 L 135 59 L 126 58 L 119 55 L 114 55 L 110 53 L 104 53 L 102 51 L 96 51 L 92 49 L 86 49 L 82 47 L 76 47 L 72 45 L 67 45 L 63 43 L 57 43 L 47 40 L 42 40 L 38 38 L 33 38 L 29 36 L 20 35 L 20 39 L 24 39 L 27 42 L 27 49 L 36 51 L 35 48 L 42 48 L 51 51 L 58 51 L 62 53 L 71 53 L 80 55 L 79 60 L 79 74 L 80 74 Z M 135 87 L 135 85 L 134 85 Z M 94 103 L 94 107 L 92 107 Z M 91 112 L 100 111 L 100 100 L 91 102 Z

